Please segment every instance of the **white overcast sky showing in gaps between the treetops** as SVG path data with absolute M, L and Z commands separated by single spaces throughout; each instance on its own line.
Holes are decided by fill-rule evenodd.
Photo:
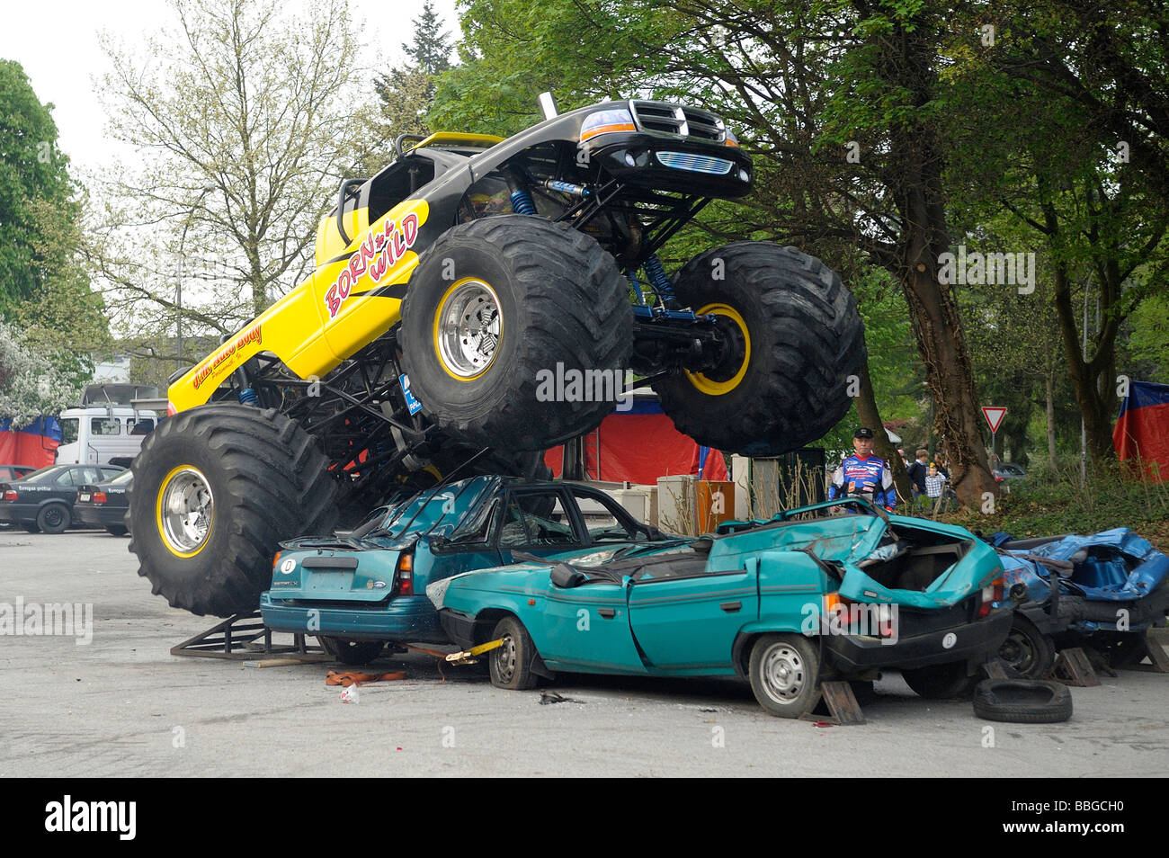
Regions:
M 289 0 L 298 7 L 305 0 Z M 310 0 L 311 1 L 311 0 Z M 455 0 L 435 0 L 445 29 L 458 34 Z M 413 19 L 422 8 L 413 0 L 350 0 L 364 20 L 365 41 L 387 65 L 402 60 L 400 44 L 413 35 Z M 105 137 L 105 116 L 94 95 L 94 78 L 109 70 L 98 47 L 106 32 L 126 48 L 140 46 L 147 34 L 174 26 L 177 18 L 164 0 L 0 0 L 0 58 L 25 67 L 42 103 L 55 106 L 60 147 L 77 172 L 96 172 L 119 154 L 123 144 Z M 76 175 L 76 173 L 75 173 Z

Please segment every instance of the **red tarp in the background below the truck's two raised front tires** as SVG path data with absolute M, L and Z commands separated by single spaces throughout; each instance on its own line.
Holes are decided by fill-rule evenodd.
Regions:
M 597 433 L 600 433 L 600 473 L 597 473 Z M 656 485 L 658 477 L 698 473 L 700 449 L 689 435 L 673 427 L 653 401 L 635 401 L 630 411 L 614 411 L 595 433 L 584 438 L 588 476 L 594 479 Z M 560 476 L 563 448 L 554 447 L 544 461 Z M 726 479 L 722 454 L 710 450 L 703 479 Z

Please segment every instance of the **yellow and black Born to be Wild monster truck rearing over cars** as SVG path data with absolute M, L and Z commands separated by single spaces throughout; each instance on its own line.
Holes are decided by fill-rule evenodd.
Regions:
M 604 102 L 509 139 L 403 136 L 395 153 L 341 182 L 313 275 L 171 385 L 129 524 L 172 606 L 249 611 L 278 541 L 476 454 L 468 473 L 533 475 L 613 409 L 623 392 L 600 382 L 627 369 L 682 431 L 748 455 L 848 409 L 863 330 L 818 260 L 736 242 L 672 279 L 658 261 L 707 202 L 750 189 L 713 113 Z

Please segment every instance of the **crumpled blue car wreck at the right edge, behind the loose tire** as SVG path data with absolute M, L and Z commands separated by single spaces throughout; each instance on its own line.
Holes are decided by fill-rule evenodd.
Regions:
M 1088 646 L 1120 666 L 1165 624 L 1169 556 L 1125 527 L 1093 535 L 1011 539 L 996 533 L 1004 582 L 1022 602 L 999 657 L 1030 679 L 1046 676 L 1057 649 Z

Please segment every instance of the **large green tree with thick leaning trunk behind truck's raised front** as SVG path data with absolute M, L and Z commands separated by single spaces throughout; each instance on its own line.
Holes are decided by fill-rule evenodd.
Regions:
M 981 503 L 995 486 L 955 290 L 939 279 L 943 18 L 936 5 L 860 0 L 475 0 L 466 62 L 444 76 L 435 115 L 512 125 L 541 89 L 573 104 L 644 92 L 721 113 L 756 164 L 739 236 L 774 236 L 830 264 L 859 248 L 897 278 L 959 497 Z

